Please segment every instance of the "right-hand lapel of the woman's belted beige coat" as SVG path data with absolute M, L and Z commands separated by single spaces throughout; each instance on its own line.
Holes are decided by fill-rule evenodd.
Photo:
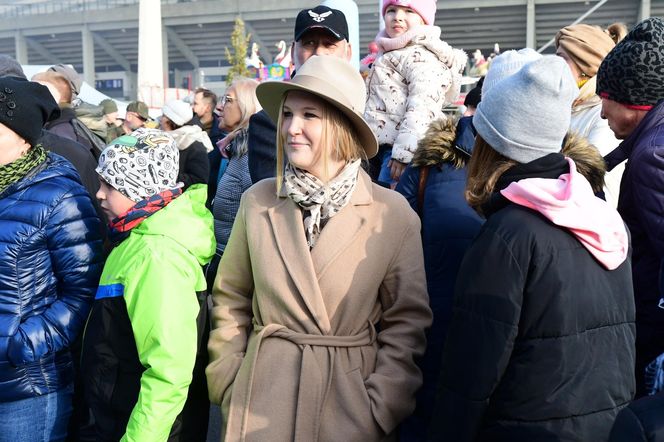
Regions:
M 311 259 L 317 277 L 320 277 L 334 259 L 352 246 L 367 219 L 357 206 L 371 204 L 371 178 L 360 171 L 351 200 L 338 214 L 333 216 L 321 231 L 316 246 L 311 251 Z M 303 228 L 304 230 L 304 228 Z

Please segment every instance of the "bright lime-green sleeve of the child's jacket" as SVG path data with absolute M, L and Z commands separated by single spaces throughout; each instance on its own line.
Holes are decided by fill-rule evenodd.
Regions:
M 200 306 L 191 264 L 168 253 L 147 249 L 137 260 L 136 277 L 125 281 L 127 312 L 146 369 L 123 442 L 165 441 L 187 400 Z

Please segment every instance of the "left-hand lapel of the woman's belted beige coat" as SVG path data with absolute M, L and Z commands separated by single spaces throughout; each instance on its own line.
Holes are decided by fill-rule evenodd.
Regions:
M 280 196 L 283 197 L 283 194 Z M 299 290 L 300 297 L 318 324 L 321 333 L 328 334 L 330 319 L 311 261 L 311 253 L 304 234 L 302 212 L 290 198 L 283 197 L 280 204 L 268 209 L 268 216 L 281 259 Z

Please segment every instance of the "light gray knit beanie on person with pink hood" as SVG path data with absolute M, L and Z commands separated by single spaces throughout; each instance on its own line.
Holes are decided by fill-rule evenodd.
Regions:
M 567 63 L 547 55 L 483 95 L 473 125 L 497 152 L 529 163 L 560 152 L 578 94 Z

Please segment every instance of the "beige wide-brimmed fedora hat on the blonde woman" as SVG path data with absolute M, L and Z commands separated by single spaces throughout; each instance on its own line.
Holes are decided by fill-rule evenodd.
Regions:
M 258 85 L 258 101 L 275 123 L 284 94 L 289 91 L 312 93 L 348 117 L 360 138 L 360 143 L 371 158 L 378 152 L 378 141 L 364 121 L 367 91 L 364 80 L 355 68 L 339 57 L 330 55 L 309 58 L 291 81 L 267 81 Z

